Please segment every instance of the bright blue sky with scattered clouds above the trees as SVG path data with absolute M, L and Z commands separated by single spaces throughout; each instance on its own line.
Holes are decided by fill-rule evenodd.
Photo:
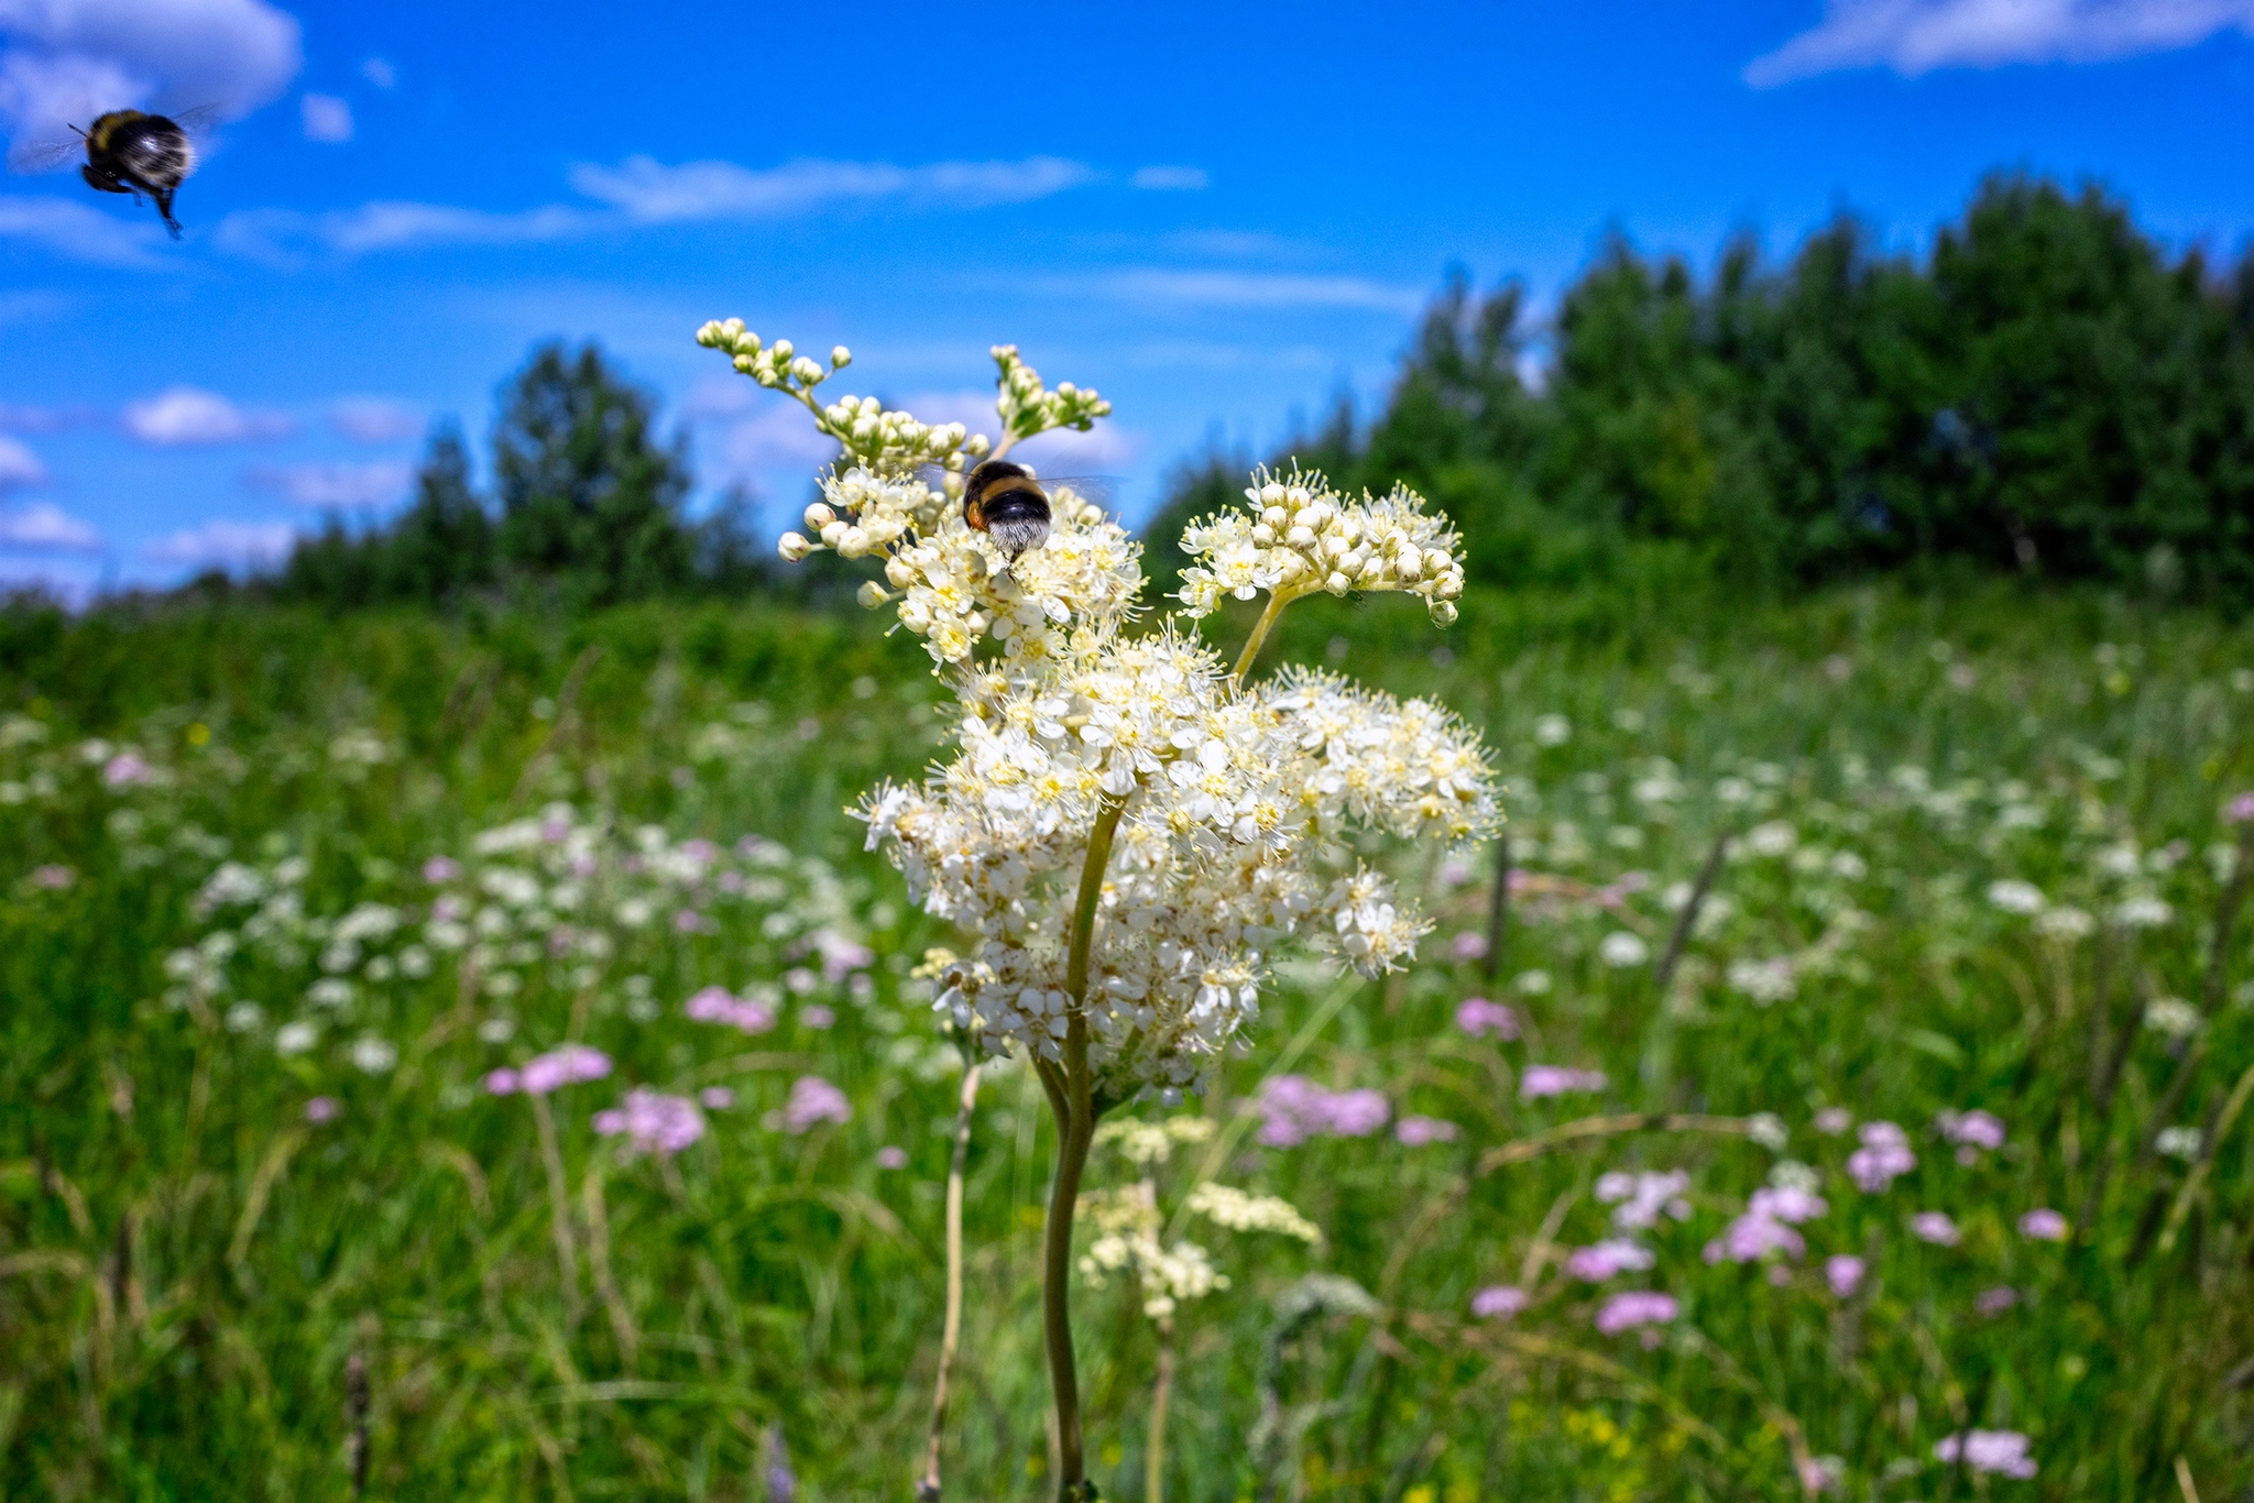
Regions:
M 1616 225 L 1709 266 L 1855 210 L 1923 246 L 1995 167 L 2177 246 L 2254 232 L 2254 0 L 620 7 L 0 0 L 16 158 L 216 104 L 187 237 L 0 178 L 0 581 L 241 566 L 485 448 L 532 343 L 595 338 L 701 496 L 796 509 L 800 426 L 690 340 L 974 417 L 987 345 L 1116 424 L 1050 471 L 1145 509 L 1208 442 L 1382 394 L 1452 264 L 1548 300 Z M 834 390 L 838 390 L 834 388 Z

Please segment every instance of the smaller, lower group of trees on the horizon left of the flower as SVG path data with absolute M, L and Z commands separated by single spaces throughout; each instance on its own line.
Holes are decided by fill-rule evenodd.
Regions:
M 744 498 L 692 521 L 692 484 L 685 444 L 658 439 L 645 390 L 593 345 L 543 345 L 503 388 L 489 498 L 471 484 L 460 430 L 442 426 L 403 512 L 363 527 L 331 516 L 248 588 L 329 608 L 527 593 L 588 608 L 766 584 Z

